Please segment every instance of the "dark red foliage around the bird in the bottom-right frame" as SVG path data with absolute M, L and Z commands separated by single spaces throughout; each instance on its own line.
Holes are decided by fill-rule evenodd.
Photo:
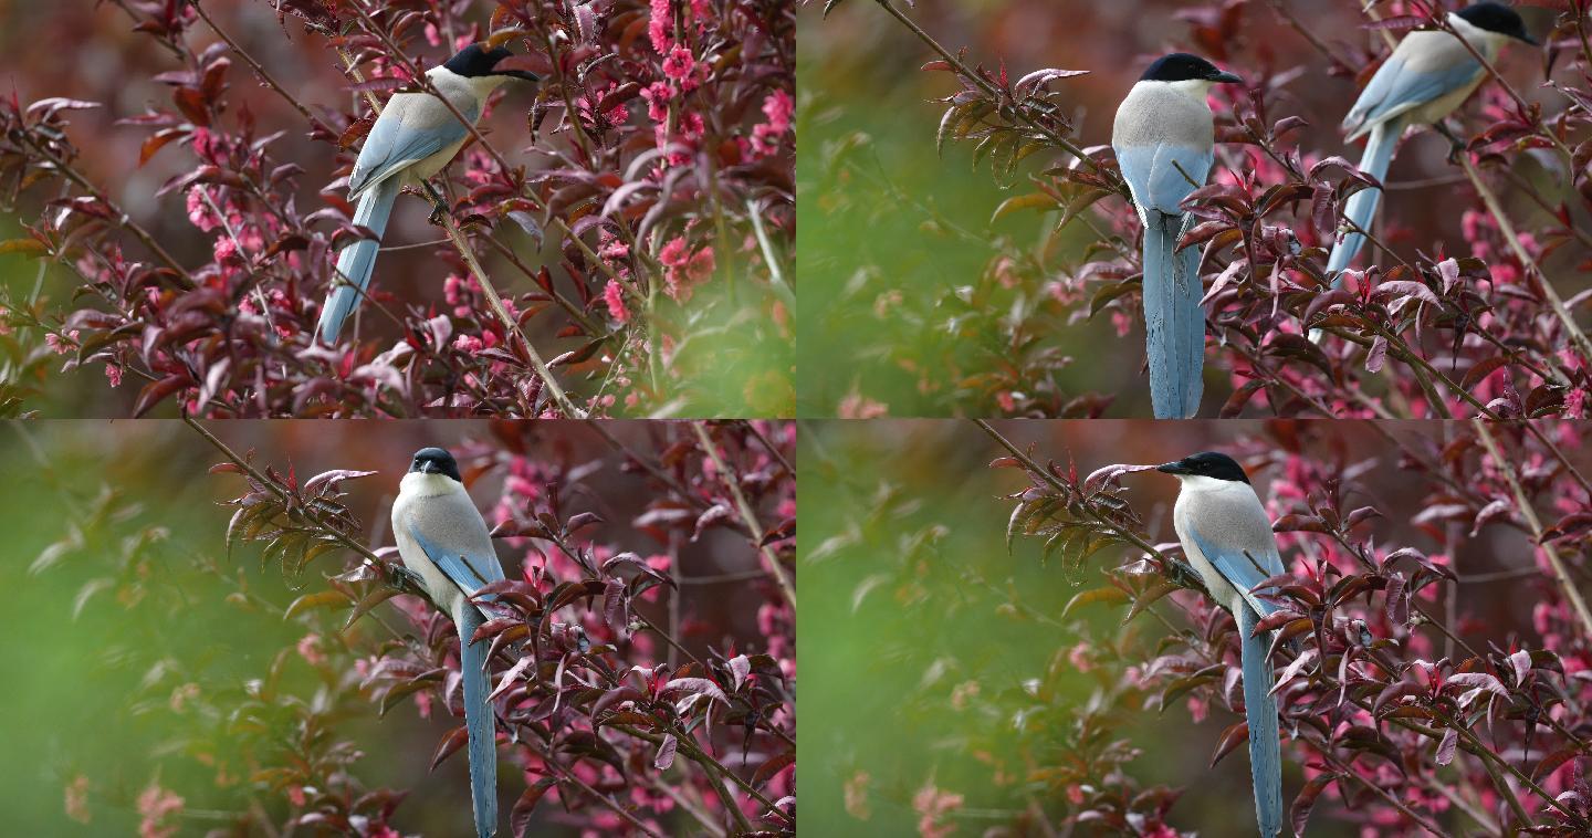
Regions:
M 1578 580 L 1592 548 L 1592 483 L 1584 457 L 1563 454 L 1582 444 L 1576 427 L 1450 422 L 1426 437 L 1382 435 L 1387 451 L 1369 460 L 1352 459 L 1342 438 L 1321 427 L 1293 424 L 1232 451 L 1264 486 L 1288 567 L 1262 594 L 1282 610 L 1261 629 L 1277 631 L 1283 760 L 1305 777 L 1291 792 L 1296 832 L 1315 813 L 1379 833 L 1420 827 L 1447 835 L 1481 824 L 1487 832 L 1586 835 L 1592 612 Z M 1393 462 L 1422 486 L 1418 497 L 1366 503 L 1379 492 L 1361 475 Z M 1087 566 L 1100 556 L 1126 553 L 1103 572 L 1103 586 L 1073 597 L 1063 620 L 1087 605 L 1148 620 L 1157 604 L 1183 618 L 1164 637 L 1095 636 L 1071 620 L 1081 639 L 1065 669 L 1097 671 L 1106 701 L 1003 707 L 1005 715 L 1032 712 L 1049 730 L 1075 731 L 1033 746 L 1067 757 L 1043 760 L 1057 766 L 1044 781 L 1052 801 L 1067 800 L 1067 820 L 1173 835 L 1180 792 L 1138 785 L 1129 766 L 1137 749 L 1118 730 L 1114 709 L 1186 704 L 1196 720 L 1223 712 L 1234 723 L 1212 742 L 1212 762 L 1242 750 L 1234 621 L 1204 594 L 1176 545 L 1154 545 L 1145 532 L 1118 483 L 1141 467 L 1079 480 L 1016 451 L 993 465 L 1028 480 L 1013 495 L 1009 537 L 1043 538 L 1046 556 L 1054 553 L 1078 578 L 1094 577 Z M 1436 548 L 1401 545 L 1390 532 Z M 1460 554 L 1501 545 L 1525 546 L 1500 553 L 1509 570 L 1457 572 Z M 1477 602 L 1461 601 L 1460 586 L 1476 593 L 1501 578 L 1532 588 L 1532 631 L 1481 642 L 1500 632 L 1474 620 L 1476 605 L 1458 605 Z

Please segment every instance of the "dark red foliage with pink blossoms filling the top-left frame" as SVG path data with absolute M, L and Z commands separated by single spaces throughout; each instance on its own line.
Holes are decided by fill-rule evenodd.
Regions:
M 60 300 L 0 300 L 18 362 L 41 368 L 54 350 L 68 370 L 102 368 L 111 387 L 137 387 L 134 416 L 161 405 L 213 417 L 788 413 L 793 300 L 769 264 L 794 242 L 788 5 L 279 3 L 275 37 L 307 38 L 314 61 L 342 72 L 323 81 L 347 91 L 336 108 L 277 81 L 283 69 L 239 41 L 231 10 L 115 6 L 166 65 L 154 81 L 169 100 L 115 115 L 143 132 L 137 159 L 84 159 L 103 155 L 102 139 L 73 115 L 108 105 L 0 100 L 3 199 L 27 228 L 0 253 L 51 260 L 76 285 Z M 505 315 L 438 234 L 419 242 L 433 264 L 416 293 L 390 282 L 412 258 L 387 252 L 358 336 L 314 343 L 336 249 L 358 236 L 341 175 L 371 105 L 420 89 L 425 67 L 476 40 L 543 76 L 490 105 L 524 115 L 516 132 L 478 132 L 447 170 L 451 223 Z M 256 84 L 269 110 L 248 105 Z M 134 196 L 137 212 L 116 198 L 121 180 L 91 177 L 129 178 L 174 155 L 185 170 L 153 199 Z M 323 183 L 307 161 L 333 158 Z M 27 395 L 0 394 L 10 413 Z

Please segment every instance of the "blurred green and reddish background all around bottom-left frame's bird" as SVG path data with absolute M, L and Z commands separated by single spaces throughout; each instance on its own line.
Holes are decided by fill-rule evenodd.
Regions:
M 595 511 L 611 523 L 602 531 L 616 548 L 643 556 L 659 551 L 629 524 L 651 500 L 645 476 L 622 472 L 613 448 L 578 422 L 237 421 L 209 427 L 234 451 L 255 451 L 261 468 L 293 467 L 299 481 L 330 468 L 379 470 L 344 484 L 373 546 L 392 543 L 392 497 L 416 449 L 514 438 L 533 462 L 591 464 L 584 489 L 567 500 L 567 515 Z M 643 422 L 605 427 L 637 451 L 653 451 L 657 440 L 656 429 Z M 8 755 L 0 760 L 0 832 L 132 835 L 140 824 L 137 798 L 151 782 L 183 797 L 175 835 L 223 827 L 228 813 L 242 805 L 247 785 L 237 782 L 250 777 L 234 771 L 228 787 L 217 787 L 217 771 L 204 755 L 181 747 L 194 725 L 215 722 L 185 715 L 181 685 L 239 688 L 266 679 L 277 669 L 272 661 L 285 653 L 280 690 L 307 703 L 322 695 L 317 672 L 299 660 L 306 625 L 282 618 L 282 609 L 306 589 L 290 588 L 275 564 L 264 566 L 256 545 L 239 545 L 231 553 L 226 548 L 232 508 L 218 502 L 242 494 L 244 481 L 207 473 L 221 460 L 215 448 L 177 421 L 0 425 L 0 473 L 8 475 L 0 488 L 0 532 L 6 540 L 6 559 L 0 562 L 0 613 L 6 621 L 0 660 L 8 671 L 8 687 L 0 691 L 0 741 Z M 487 508 L 498 497 L 501 480 L 501 470 L 489 472 L 471 486 L 478 505 Z M 688 621 L 680 639 L 694 655 L 708 647 L 763 650 L 756 613 L 766 597 L 759 585 L 740 578 L 748 554 L 743 537 L 720 529 L 680 545 L 680 575 L 737 580 L 680 586 L 678 613 Z M 196 572 L 197 561 L 215 562 L 248 596 Z M 312 564 L 304 574 L 307 589 L 323 589 L 320 574 L 334 572 L 339 562 Z M 505 566 L 511 577 L 519 570 L 517 561 Z M 669 625 L 667 601 L 659 597 L 643 613 Z M 379 605 L 374 615 L 406 626 L 401 615 L 388 612 L 392 607 Z M 369 618 L 352 634 L 365 631 L 380 634 Z M 433 707 L 430 719 L 422 719 L 417 704 L 404 701 L 384 719 L 368 704 L 331 734 L 355 742 L 363 754 L 350 771 L 366 787 L 409 789 L 393 819 L 406 835 L 463 835 L 470 822 L 463 755 L 430 771 L 438 739 L 452 726 L 447 712 Z M 293 734 L 277 731 L 283 741 Z M 739 765 L 728 754 L 720 757 Z M 67 816 L 67 789 L 80 776 L 88 777 L 78 808 L 86 824 Z M 524 782 L 503 765 L 498 784 L 506 824 Z M 259 805 L 280 811 L 269 795 Z M 560 811 L 543 801 L 533 832 L 578 835 L 560 820 Z

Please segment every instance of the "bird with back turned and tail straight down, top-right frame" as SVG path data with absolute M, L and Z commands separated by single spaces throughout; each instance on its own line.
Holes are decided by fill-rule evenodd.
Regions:
M 1205 94 L 1243 81 L 1186 53 L 1156 59 L 1116 110 L 1111 148 L 1145 225 L 1145 333 L 1156 419 L 1199 411 L 1205 387 L 1205 312 L 1199 301 L 1199 249 L 1176 252 L 1194 217 L 1188 194 L 1205 185 L 1216 127 Z

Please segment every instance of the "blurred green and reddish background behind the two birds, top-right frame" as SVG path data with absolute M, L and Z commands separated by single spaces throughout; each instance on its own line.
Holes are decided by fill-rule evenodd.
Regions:
M 1361 25 L 1363 3 L 1282 5 L 1339 56 L 1364 61 L 1379 46 L 1382 33 Z M 1110 143 L 1118 102 L 1154 57 L 1180 49 L 1212 56 L 1248 81 L 1286 75 L 1269 119 L 1307 119 L 1299 137 L 1313 159 L 1360 159 L 1361 147 L 1345 147 L 1337 131 L 1358 92 L 1355 80 L 1334 70 L 1274 11 L 1274 3 L 919 0 L 895 6 L 949 51 L 966 48 L 968 64 L 990 70 L 1005 64 L 1011 78 L 1044 67 L 1087 70 L 1051 84 L 1065 94 L 1063 112 L 1078 127 L 1075 142 L 1084 148 Z M 1393 13 L 1387 3 L 1377 8 L 1383 16 Z M 1544 32 L 1552 19 L 1544 8 L 1519 11 L 1533 32 Z M 920 72 L 938 56 L 877 3 L 845 0 L 828 19 L 821 19 L 820 3 L 809 3 L 799 24 L 799 416 L 1013 414 L 1011 401 L 992 379 L 1009 370 L 1019 352 L 1000 330 L 976 320 L 958 296 L 965 301 L 976 277 L 997 269 L 998 253 L 1038 255 L 1059 213 L 1024 210 L 995 221 L 992 215 L 1001 201 L 1033 191 L 1024 188 L 1030 175 L 1067 158 L 1041 150 L 1019 163 L 1016 185 L 1003 188 L 987 161 L 974 167 L 971 142 L 947 140 L 944 153 L 936 155 L 944 107 L 933 100 L 958 86 L 950 73 Z M 1547 102 L 1533 81 L 1541 78 L 1538 56 L 1522 45 L 1500 70 L 1522 96 Z M 1469 110 L 1474 107 L 1471 102 Z M 1473 113 L 1468 124 L 1482 123 Z M 1465 201 L 1471 198 L 1468 186 L 1457 185 L 1463 175 L 1446 164 L 1446 156 L 1447 140 L 1426 132 L 1407 142 L 1393 163 L 1390 183 L 1422 183 L 1396 188 L 1385 204 L 1407 228 L 1409 237 L 1399 241 L 1409 247 L 1463 245 L 1450 196 L 1463 190 Z M 1218 167 L 1223 161 L 1243 166 L 1231 147 L 1218 151 Z M 1530 217 L 1522 201 L 1504 199 L 1517 218 Z M 1102 206 L 1121 209 L 1118 204 L 1110 198 Z M 1076 271 L 1098 258 L 1084 252 L 1092 241 L 1087 228 L 1073 223 L 1048 264 L 1052 271 Z M 1565 276 L 1560 282 L 1570 284 L 1570 293 L 1584 287 L 1584 277 Z M 982 304 L 1001 309 L 993 315 L 1032 317 L 1044 330 L 1038 343 L 1068 358 L 1055 376 L 1057 389 L 1114 397 L 1106 416 L 1149 416 L 1141 323 L 1135 320 L 1129 335 L 1119 336 L 1108 314 L 1046 320 L 1043 296 L 1040 288 L 1022 287 Z M 1035 309 L 1038 314 L 1030 314 Z M 1087 304 L 1083 311 L 1089 311 Z M 957 335 L 968 322 L 979 327 Z M 1210 366 L 1205 403 L 1215 409 L 1232 386 Z

